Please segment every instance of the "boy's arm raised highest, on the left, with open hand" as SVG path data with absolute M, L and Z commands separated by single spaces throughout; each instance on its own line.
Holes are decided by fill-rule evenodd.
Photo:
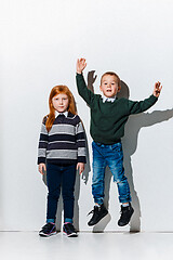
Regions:
M 85 68 L 86 63 L 84 58 L 78 58 L 77 61 L 77 88 L 78 88 L 78 93 L 80 96 L 89 104 L 89 106 L 92 103 L 92 100 L 94 99 L 94 93 L 88 89 L 82 72 Z

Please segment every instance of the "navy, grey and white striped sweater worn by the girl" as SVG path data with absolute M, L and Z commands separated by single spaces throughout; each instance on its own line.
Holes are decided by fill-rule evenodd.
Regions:
M 38 165 L 43 162 L 69 165 L 85 162 L 84 130 L 78 115 L 57 116 L 51 130 L 43 119 L 38 148 Z

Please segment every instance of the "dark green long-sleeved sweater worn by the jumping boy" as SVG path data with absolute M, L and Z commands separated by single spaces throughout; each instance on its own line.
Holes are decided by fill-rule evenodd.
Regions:
M 90 133 L 95 142 L 114 144 L 124 135 L 124 126 L 132 114 L 147 110 L 158 100 L 150 95 L 144 101 L 116 99 L 115 102 L 103 103 L 99 94 L 94 94 L 86 88 L 82 75 L 77 74 L 77 87 L 81 98 L 91 108 Z

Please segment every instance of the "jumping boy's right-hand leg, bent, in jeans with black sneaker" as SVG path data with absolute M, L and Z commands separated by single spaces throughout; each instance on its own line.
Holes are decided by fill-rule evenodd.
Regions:
M 121 143 L 116 143 L 114 145 L 110 145 L 110 151 L 109 153 L 107 153 L 106 161 L 114 176 L 114 181 L 117 182 L 119 200 L 120 203 L 122 203 L 121 218 L 118 221 L 118 224 L 127 225 L 130 222 L 130 219 L 134 210 L 130 204 L 131 194 L 130 194 L 128 179 L 124 176 L 123 152 L 122 152 Z

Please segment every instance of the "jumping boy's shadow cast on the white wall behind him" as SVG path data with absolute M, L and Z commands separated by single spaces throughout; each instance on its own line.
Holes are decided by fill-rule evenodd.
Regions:
M 94 76 L 95 70 L 89 72 L 88 74 L 88 88 L 94 92 L 93 83 L 97 76 Z M 121 91 L 118 93 L 118 98 L 125 98 L 129 99 L 130 91 L 129 87 L 121 80 Z M 142 113 L 138 115 L 133 115 L 129 117 L 129 120 L 125 125 L 124 138 L 122 139 L 123 145 L 123 155 L 124 155 L 124 169 L 125 176 L 128 177 L 131 196 L 132 196 L 132 204 L 134 207 L 134 214 L 132 217 L 130 223 L 130 231 L 131 232 L 139 232 L 141 231 L 141 205 L 137 192 L 134 188 L 133 183 L 133 169 L 131 164 L 131 156 L 135 153 L 137 148 L 137 138 L 138 132 L 143 127 L 150 127 L 155 123 L 159 123 L 165 120 L 169 120 L 173 117 L 173 109 L 168 110 L 156 110 L 151 114 L 149 113 Z M 106 168 L 105 172 L 105 199 L 104 204 L 107 208 L 109 208 L 109 190 L 110 190 L 110 181 L 111 181 L 111 172 L 109 168 Z M 93 232 L 104 232 L 105 227 L 109 223 L 111 217 L 107 214 L 98 224 L 93 227 Z

